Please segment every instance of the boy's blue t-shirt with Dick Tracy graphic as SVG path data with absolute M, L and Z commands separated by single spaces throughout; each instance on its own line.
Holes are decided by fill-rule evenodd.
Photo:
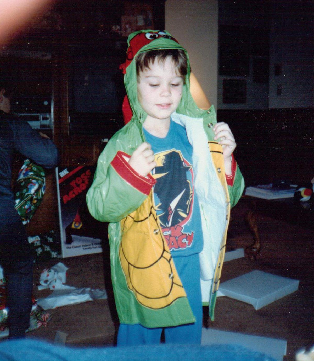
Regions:
M 152 176 L 154 207 L 162 232 L 173 257 L 189 256 L 203 249 L 201 217 L 196 193 L 192 146 L 185 128 L 170 122 L 165 138 L 158 138 L 144 129 L 157 162 Z

